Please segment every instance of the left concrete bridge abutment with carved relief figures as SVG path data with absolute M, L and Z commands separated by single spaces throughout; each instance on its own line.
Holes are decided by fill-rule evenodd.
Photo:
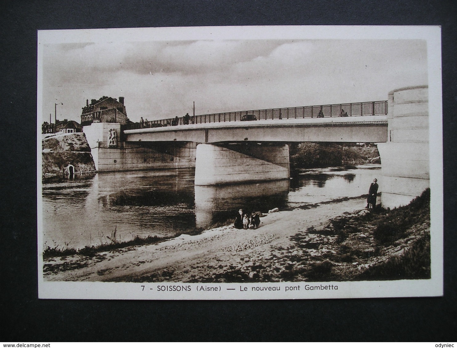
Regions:
M 112 141 L 112 130 L 116 139 Z M 118 123 L 92 123 L 83 129 L 97 171 L 193 168 L 196 143 L 120 141 Z

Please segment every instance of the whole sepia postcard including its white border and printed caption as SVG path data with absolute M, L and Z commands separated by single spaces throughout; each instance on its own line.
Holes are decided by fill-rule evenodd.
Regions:
M 40 298 L 442 296 L 440 27 L 37 45 Z

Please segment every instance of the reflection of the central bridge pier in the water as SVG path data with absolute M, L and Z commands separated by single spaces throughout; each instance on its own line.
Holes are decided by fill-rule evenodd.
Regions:
M 289 180 L 195 186 L 197 227 L 233 218 L 239 208 L 246 212 L 266 212 L 287 206 Z

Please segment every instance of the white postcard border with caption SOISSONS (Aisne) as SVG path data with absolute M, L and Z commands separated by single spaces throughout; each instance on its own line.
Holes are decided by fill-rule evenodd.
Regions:
M 38 296 L 43 299 L 135 300 L 250 300 L 367 297 L 417 297 L 443 295 L 443 163 L 441 27 L 439 26 L 214 26 L 172 28 L 78 29 L 38 31 L 37 134 L 41 133 L 43 106 L 43 44 L 70 42 L 165 41 L 222 39 L 423 39 L 427 42 L 430 121 L 430 244 L 431 279 L 343 282 L 279 283 L 104 283 L 43 280 L 43 205 L 41 137 L 37 137 Z M 387 93 L 387 91 L 386 91 Z M 221 291 L 197 291 L 200 286 L 221 286 Z M 334 286 L 306 290 L 305 286 Z M 191 286 L 191 291 L 158 291 L 158 286 Z M 277 287 L 280 291 L 252 291 L 252 287 Z M 299 291 L 285 291 L 300 286 Z M 335 286 L 338 290 L 335 290 Z M 236 290 L 226 290 L 235 288 Z M 242 291 L 247 288 L 246 291 Z M 152 289 L 152 290 L 150 290 Z

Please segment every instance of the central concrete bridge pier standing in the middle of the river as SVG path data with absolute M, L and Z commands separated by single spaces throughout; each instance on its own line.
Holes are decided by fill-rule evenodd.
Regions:
M 289 146 L 197 145 L 195 185 L 289 179 Z

